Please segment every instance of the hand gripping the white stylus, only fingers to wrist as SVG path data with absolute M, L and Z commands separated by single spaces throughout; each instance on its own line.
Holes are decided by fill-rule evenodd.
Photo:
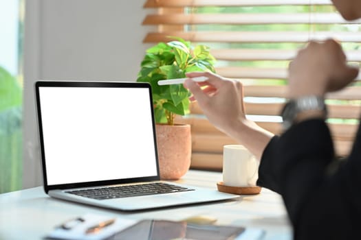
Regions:
M 197 99 L 199 107 L 216 128 L 228 133 L 232 131 L 234 125 L 245 119 L 241 82 L 208 72 L 187 73 L 186 76 L 208 77 L 206 82 L 196 83 L 186 80 L 184 87 L 193 93 L 190 99 L 193 101 Z

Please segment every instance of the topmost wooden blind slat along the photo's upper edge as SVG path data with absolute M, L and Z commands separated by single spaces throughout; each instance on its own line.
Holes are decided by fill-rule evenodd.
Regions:
M 256 5 L 331 5 L 329 0 L 147 0 L 144 8 L 256 6 Z

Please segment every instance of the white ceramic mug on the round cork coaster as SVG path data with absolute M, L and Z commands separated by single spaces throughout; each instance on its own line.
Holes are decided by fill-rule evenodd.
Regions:
M 223 146 L 223 184 L 231 187 L 254 187 L 259 161 L 243 145 Z

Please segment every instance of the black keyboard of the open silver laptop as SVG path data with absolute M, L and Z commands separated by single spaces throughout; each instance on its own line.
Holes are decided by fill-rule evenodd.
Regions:
M 90 197 L 96 200 L 107 200 L 119 197 L 135 197 L 142 195 L 155 195 L 163 193 L 179 193 L 183 191 L 193 191 L 194 189 L 188 189 L 186 187 L 179 187 L 173 184 L 167 184 L 164 182 L 155 182 L 147 184 L 126 185 L 118 187 L 105 187 L 99 189 L 84 189 L 66 191 L 66 193 L 72 193 L 80 195 L 82 197 Z

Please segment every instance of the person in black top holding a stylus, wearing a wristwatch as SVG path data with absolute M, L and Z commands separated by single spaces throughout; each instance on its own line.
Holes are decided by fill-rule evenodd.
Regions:
M 333 0 L 333 5 L 344 19 L 361 17 L 361 1 Z M 208 77 L 202 83 L 186 80 L 190 99 L 198 101 L 210 123 L 260 159 L 257 184 L 282 195 L 294 239 L 361 239 L 360 126 L 349 156 L 335 160 L 324 104 L 326 93 L 357 75 L 335 40 L 311 41 L 289 64 L 289 102 L 282 112 L 287 129 L 274 136 L 245 118 L 241 82 L 187 73 Z

